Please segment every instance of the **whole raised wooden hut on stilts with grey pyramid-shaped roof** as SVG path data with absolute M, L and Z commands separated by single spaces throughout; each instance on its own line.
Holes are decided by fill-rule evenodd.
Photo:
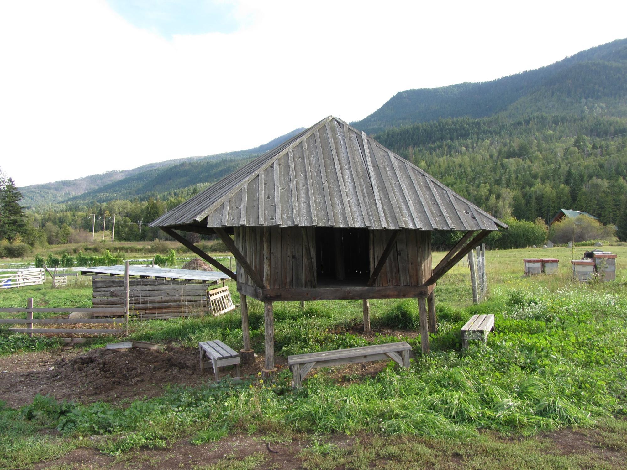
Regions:
M 433 285 L 490 231 L 507 227 L 364 132 L 329 116 L 150 226 L 161 227 L 265 303 L 266 372 L 274 370 L 273 302 L 418 298 L 423 350 L 436 330 Z M 431 232 L 465 234 L 432 269 Z M 237 275 L 177 231 L 218 234 Z M 233 238 L 231 238 L 233 235 Z M 428 320 L 429 318 L 429 320 Z

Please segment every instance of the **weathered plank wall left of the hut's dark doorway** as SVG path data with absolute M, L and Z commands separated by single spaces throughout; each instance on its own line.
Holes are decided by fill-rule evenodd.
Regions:
M 271 289 L 315 287 L 314 227 L 234 227 L 234 241 L 263 279 L 263 231 L 270 231 Z M 238 282 L 254 285 L 237 263 Z

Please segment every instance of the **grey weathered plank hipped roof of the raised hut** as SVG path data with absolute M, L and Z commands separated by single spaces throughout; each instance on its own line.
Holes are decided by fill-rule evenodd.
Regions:
M 181 225 L 421 230 L 507 227 L 333 116 L 150 224 Z

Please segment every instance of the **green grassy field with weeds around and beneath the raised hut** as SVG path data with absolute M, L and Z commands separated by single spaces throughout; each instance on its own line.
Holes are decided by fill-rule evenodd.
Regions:
M 361 301 L 312 302 L 305 311 L 277 303 L 279 357 L 400 338 L 416 353 L 411 369 L 318 369 L 298 391 L 283 370 L 273 382 L 257 375 L 241 384 L 208 380 L 125 404 L 36 397 L 19 409 L 0 408 L 0 465 L 624 467 L 627 247 L 607 249 L 618 254 L 617 280 L 584 284 L 571 281 L 569 260 L 585 248 L 490 251 L 490 296 L 480 305 L 472 305 L 468 267 L 460 263 L 436 287 L 439 330 L 429 355 L 420 353 L 416 301 L 372 301 L 376 333 L 369 336 L 359 333 Z M 559 258 L 560 274 L 523 276 L 522 258 L 538 256 Z M 89 306 L 91 291 L 11 289 L 0 291 L 0 306 L 26 305 L 28 297 L 36 306 Z M 249 308 L 253 347 L 261 353 L 262 305 L 250 301 Z M 496 331 L 487 346 L 461 351 L 460 327 L 474 313 L 494 313 Z M 136 322 L 130 337 L 190 348 L 219 338 L 240 348 L 240 315 Z M 0 332 L 4 355 L 54 347 L 55 340 Z

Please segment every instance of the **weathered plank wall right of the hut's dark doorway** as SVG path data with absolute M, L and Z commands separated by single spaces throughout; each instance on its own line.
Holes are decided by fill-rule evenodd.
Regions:
M 386 248 L 389 230 L 370 231 L 370 272 Z M 375 286 L 419 286 L 431 276 L 431 232 L 406 229 L 396 239 Z

